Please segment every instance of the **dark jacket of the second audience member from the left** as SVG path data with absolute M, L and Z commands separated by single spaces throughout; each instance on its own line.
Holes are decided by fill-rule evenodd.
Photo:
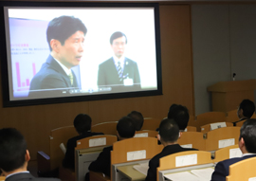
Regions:
M 65 152 L 64 161 L 63 161 L 64 168 L 75 169 L 75 148 L 77 146 L 77 140 L 82 139 L 84 137 L 99 136 L 99 135 L 103 135 L 103 134 L 86 132 L 80 136 L 75 136 L 68 139 L 66 143 L 66 152 Z

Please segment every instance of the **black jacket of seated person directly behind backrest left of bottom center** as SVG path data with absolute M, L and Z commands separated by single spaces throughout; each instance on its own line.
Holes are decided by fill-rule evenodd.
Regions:
M 113 146 L 106 147 L 103 149 L 97 160 L 93 161 L 89 166 L 89 171 L 103 172 L 105 175 L 110 176 L 111 168 L 111 151 Z

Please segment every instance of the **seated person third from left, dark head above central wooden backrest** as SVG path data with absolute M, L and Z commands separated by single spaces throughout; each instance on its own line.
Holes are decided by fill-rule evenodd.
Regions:
M 132 118 L 123 117 L 119 119 L 117 124 L 117 135 L 119 141 L 135 136 L 136 128 Z M 89 166 L 89 171 L 103 172 L 105 175 L 110 176 L 111 158 L 110 153 L 113 146 L 103 149 L 97 160 L 93 161 Z

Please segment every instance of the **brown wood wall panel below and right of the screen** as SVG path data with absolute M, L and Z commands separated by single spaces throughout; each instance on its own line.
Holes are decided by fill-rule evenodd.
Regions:
M 132 110 L 140 111 L 144 117 L 164 118 L 170 105 L 179 103 L 186 105 L 193 115 L 191 9 L 189 5 L 160 5 L 159 11 L 163 95 L 1 107 L 0 128 L 20 130 L 27 139 L 31 158 L 35 159 L 37 151 L 49 153 L 50 130 L 71 125 L 79 113 L 89 114 L 93 124 L 119 120 Z

